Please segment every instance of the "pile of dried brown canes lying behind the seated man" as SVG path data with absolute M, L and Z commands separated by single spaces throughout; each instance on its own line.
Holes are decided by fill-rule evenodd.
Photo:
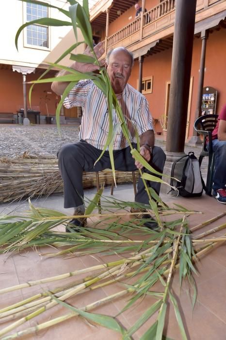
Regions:
M 138 172 L 136 173 L 138 177 Z M 100 183 L 112 184 L 112 171 L 99 172 Z M 131 172 L 116 171 L 117 183 L 132 182 Z M 97 185 L 96 172 L 84 172 L 83 187 Z M 0 158 L 0 202 L 21 200 L 25 197 L 48 196 L 63 192 L 63 181 L 55 156 Z

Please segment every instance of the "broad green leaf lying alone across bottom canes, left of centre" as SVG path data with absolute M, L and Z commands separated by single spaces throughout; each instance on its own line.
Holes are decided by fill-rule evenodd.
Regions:
M 122 332 L 123 332 L 122 327 L 111 316 L 84 312 L 81 309 L 77 309 L 77 308 L 75 308 L 73 306 L 70 306 L 69 304 L 59 300 L 58 298 L 56 298 L 52 294 L 50 296 L 54 300 L 56 300 L 60 305 L 65 306 L 66 308 L 69 308 L 69 309 L 73 310 L 74 312 L 76 312 L 79 315 L 81 315 L 83 318 L 85 318 L 87 320 L 90 320 L 92 322 L 98 323 L 101 326 L 104 326 L 106 328 L 112 329 L 113 331 L 120 332 L 122 334 Z

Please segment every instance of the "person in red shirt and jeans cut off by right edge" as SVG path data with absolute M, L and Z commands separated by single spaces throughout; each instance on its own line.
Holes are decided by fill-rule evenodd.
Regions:
M 212 139 L 215 153 L 212 195 L 218 202 L 226 204 L 226 104 L 220 112 Z

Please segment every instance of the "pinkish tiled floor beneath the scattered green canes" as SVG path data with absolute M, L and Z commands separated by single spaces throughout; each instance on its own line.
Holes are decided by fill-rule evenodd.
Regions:
M 86 197 L 92 197 L 93 190 L 86 190 Z M 106 195 L 109 195 L 109 188 Z M 114 191 L 114 197 L 121 198 L 123 200 L 132 200 L 133 189 L 130 185 L 118 186 Z M 177 203 L 186 206 L 188 209 L 194 209 L 201 211 L 203 214 L 195 214 L 189 217 L 190 227 L 197 225 L 200 222 L 207 221 L 210 218 L 219 215 L 226 211 L 224 204 L 219 204 L 214 198 L 206 196 L 205 194 L 201 198 L 196 199 L 184 199 L 184 198 L 171 198 L 170 196 L 163 195 L 163 200 L 169 202 L 169 204 Z M 55 208 L 65 212 L 62 208 L 63 199 L 62 196 L 52 196 L 48 199 L 34 200 L 34 205 L 43 205 L 49 208 Z M 1 207 L 1 214 L 10 212 L 15 205 L 3 204 Z M 25 210 L 27 204 L 21 204 L 17 210 Z M 69 212 L 70 213 L 70 212 Z M 67 212 L 68 214 L 68 212 Z M 203 227 L 200 230 L 194 232 L 195 235 L 200 232 L 207 231 L 210 227 L 215 227 L 220 224 L 226 223 L 226 217 L 213 222 L 212 224 Z M 225 235 L 225 229 L 215 234 L 211 234 L 209 237 L 216 237 L 219 235 Z M 35 280 L 44 278 L 47 276 L 58 275 L 61 273 L 72 272 L 78 269 L 87 268 L 99 263 L 105 263 L 113 258 L 118 258 L 117 255 L 86 255 L 82 257 L 71 257 L 65 259 L 65 257 L 52 257 L 46 258 L 40 256 L 41 253 L 49 251 L 49 248 L 37 251 L 29 250 L 21 252 L 20 254 L 4 254 L 0 255 L 0 288 L 9 287 L 24 283 L 28 280 Z M 198 298 L 194 310 L 192 310 L 191 302 L 186 292 L 186 286 L 180 291 L 178 285 L 178 273 L 175 273 L 173 289 L 177 296 L 182 318 L 187 331 L 188 339 L 190 340 L 225 340 L 226 339 L 226 246 L 221 245 L 215 250 L 211 251 L 208 255 L 201 258 L 200 263 L 196 265 L 199 271 L 199 276 L 196 277 L 196 284 L 198 289 Z M 83 274 L 80 277 L 87 276 L 89 273 Z M 75 278 L 68 278 L 64 282 L 71 282 Z M 46 284 L 42 287 L 48 287 L 53 289 L 61 285 L 61 282 L 55 282 L 54 284 Z M 154 289 L 158 291 L 160 284 L 156 284 Z M 34 286 L 31 288 L 16 290 L 12 293 L 0 295 L 0 308 L 12 303 L 16 303 L 21 298 L 27 298 L 42 291 L 40 286 Z M 107 286 L 94 291 L 87 291 L 76 297 L 68 300 L 72 305 L 76 307 L 85 306 L 91 302 L 97 301 L 101 298 L 107 297 L 113 293 L 121 291 L 124 286 L 119 283 L 114 283 L 111 286 Z M 136 307 L 132 307 L 131 310 L 127 310 L 117 317 L 117 320 L 129 328 L 132 326 L 138 318 L 144 313 L 145 309 L 151 306 L 154 302 L 154 298 L 146 296 L 144 300 L 139 301 Z M 128 296 L 114 300 L 103 306 L 99 306 L 94 309 L 96 313 L 103 313 L 115 316 L 128 302 Z M 171 305 L 167 310 L 167 323 L 164 328 L 164 334 L 167 337 L 180 340 L 180 332 L 178 324 L 174 314 L 174 310 Z M 68 314 L 70 310 L 64 306 L 57 306 L 49 309 L 43 315 L 38 316 L 27 323 L 20 325 L 16 330 L 25 329 L 28 327 L 36 326 L 39 323 L 47 322 L 52 318 L 56 318 L 60 315 Z M 154 315 L 148 320 L 133 336 L 134 340 L 141 338 L 141 335 L 147 330 L 151 322 L 156 318 Z M 7 323 L 8 325 L 9 323 Z M 0 324 L 0 329 L 3 325 Z M 13 332 L 13 331 L 12 331 Z M 120 335 L 112 330 L 102 328 L 97 325 L 93 325 L 89 322 L 81 320 L 79 317 L 74 317 L 66 320 L 65 322 L 54 325 L 46 330 L 42 330 L 36 334 L 23 336 L 22 339 L 43 339 L 43 340 L 119 340 Z M 150 339 L 151 340 L 151 339 Z

